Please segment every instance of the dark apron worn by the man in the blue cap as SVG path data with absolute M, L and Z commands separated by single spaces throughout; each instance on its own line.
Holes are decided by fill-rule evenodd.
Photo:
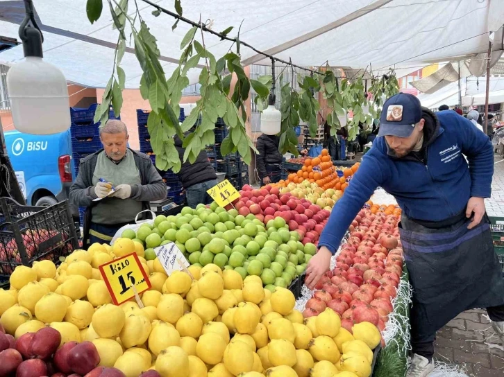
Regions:
M 399 233 L 413 288 L 412 345 L 472 308 L 504 304 L 504 282 L 485 215 L 467 229 L 462 213 L 442 222 L 402 216 Z

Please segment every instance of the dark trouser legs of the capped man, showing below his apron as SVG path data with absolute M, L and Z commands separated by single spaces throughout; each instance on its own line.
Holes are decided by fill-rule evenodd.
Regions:
M 417 308 L 415 306 L 417 305 Z M 412 353 L 417 353 L 417 355 L 423 356 L 428 360 L 432 360 L 434 356 L 434 341 L 436 340 L 436 334 L 430 334 L 424 337 L 417 337 L 415 334 L 423 333 L 422 322 L 417 321 L 416 317 L 419 314 L 420 307 L 419 304 L 413 303 L 413 307 L 410 313 L 411 319 L 411 351 Z M 487 313 L 490 319 L 494 322 L 504 322 L 504 305 L 493 306 L 487 308 Z M 448 323 L 448 322 L 447 322 Z

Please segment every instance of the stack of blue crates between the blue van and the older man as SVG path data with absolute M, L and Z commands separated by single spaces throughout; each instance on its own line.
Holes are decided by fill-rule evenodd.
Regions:
M 75 175 L 78 174 L 78 166 L 81 159 L 87 155 L 102 148 L 99 134 L 100 123 L 94 123 L 94 112 L 96 112 L 95 103 L 89 109 L 78 109 L 70 107 L 70 135 L 72 137 L 72 159 L 74 160 Z M 118 119 L 110 110 L 108 114 L 110 119 Z M 81 219 L 81 225 L 84 224 L 85 207 L 79 207 L 78 214 Z

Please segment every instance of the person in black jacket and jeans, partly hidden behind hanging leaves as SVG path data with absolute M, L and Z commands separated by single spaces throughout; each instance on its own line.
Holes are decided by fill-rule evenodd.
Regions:
M 180 137 L 175 136 L 174 142 L 178 157 L 180 157 L 180 161 L 183 161 L 185 148 L 182 147 L 182 140 L 180 140 Z M 177 175 L 182 186 L 184 186 L 185 199 L 189 207 L 196 208 L 199 203 L 210 204 L 212 202 L 212 198 L 206 191 L 218 183 L 217 174 L 215 174 L 215 170 L 208 161 L 208 156 L 204 150 L 199 152 L 194 164 L 189 161 L 183 162 Z

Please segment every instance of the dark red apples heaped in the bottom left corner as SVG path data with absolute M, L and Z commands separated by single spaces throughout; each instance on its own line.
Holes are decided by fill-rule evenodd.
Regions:
M 96 367 L 100 356 L 92 342 L 67 342 L 60 347 L 61 335 L 55 328 L 44 327 L 26 333 L 17 340 L 0 325 L 0 376 L 100 376 Z M 58 348 L 59 347 L 59 348 Z M 105 368 L 107 376 L 124 377 L 115 368 Z

